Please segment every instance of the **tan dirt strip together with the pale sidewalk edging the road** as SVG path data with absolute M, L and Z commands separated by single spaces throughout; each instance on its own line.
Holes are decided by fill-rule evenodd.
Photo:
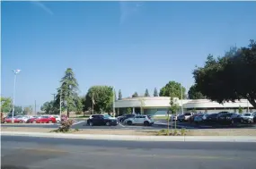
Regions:
M 79 130 L 72 133 L 51 132 L 49 128 L 1 127 L 1 135 L 66 139 L 109 139 L 143 141 L 241 141 L 256 142 L 255 129 L 189 130 L 185 136 L 159 136 L 159 130 Z

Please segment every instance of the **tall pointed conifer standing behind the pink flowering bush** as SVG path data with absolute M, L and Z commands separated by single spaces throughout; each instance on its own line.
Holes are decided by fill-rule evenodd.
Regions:
M 78 97 L 78 82 L 75 79 L 75 73 L 71 68 L 67 68 L 64 77 L 60 80 L 61 86 L 57 89 L 57 99 L 55 104 L 59 105 L 61 96 L 62 109 L 66 110 L 69 117 L 70 111 L 76 111 L 77 104 L 79 103 Z

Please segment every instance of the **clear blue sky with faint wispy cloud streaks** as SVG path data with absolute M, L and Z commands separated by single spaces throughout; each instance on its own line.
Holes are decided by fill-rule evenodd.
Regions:
M 2 96 L 16 105 L 52 99 L 71 67 L 85 95 L 115 86 L 153 94 L 169 80 L 186 89 L 208 54 L 256 38 L 255 2 L 2 2 Z

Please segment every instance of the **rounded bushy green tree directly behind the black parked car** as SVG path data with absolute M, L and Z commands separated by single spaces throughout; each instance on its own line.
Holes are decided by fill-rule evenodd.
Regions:
M 96 112 L 110 113 L 113 104 L 113 89 L 110 86 L 93 86 L 88 90 L 85 100 L 84 106 L 87 110 L 93 107 Z

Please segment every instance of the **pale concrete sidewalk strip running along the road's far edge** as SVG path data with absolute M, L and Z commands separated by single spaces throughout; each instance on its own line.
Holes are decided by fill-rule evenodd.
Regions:
M 256 142 L 255 136 L 132 136 L 132 135 L 96 135 L 96 134 L 64 134 L 40 132 L 2 131 L 1 136 L 27 136 L 61 139 L 104 139 L 133 141 L 179 141 L 179 142 Z

